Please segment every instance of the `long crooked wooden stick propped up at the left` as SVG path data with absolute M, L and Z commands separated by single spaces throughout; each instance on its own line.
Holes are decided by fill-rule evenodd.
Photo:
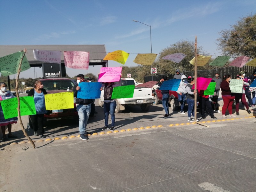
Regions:
M 18 110 L 18 119 L 19 119 L 19 122 L 20 122 L 20 125 L 21 125 L 21 130 L 23 131 L 24 135 L 28 138 L 28 140 L 31 142 L 33 148 L 36 148 L 34 141 L 28 136 L 28 134 L 27 134 L 27 132 L 26 132 L 26 130 L 24 128 L 24 125 L 22 123 L 21 116 L 20 116 L 20 95 L 19 95 L 19 84 L 18 83 L 19 83 L 19 76 L 20 76 L 20 71 L 21 71 L 21 63 L 22 63 L 22 60 L 23 60 L 26 52 L 27 52 L 27 50 L 24 49 L 23 50 L 23 56 L 22 56 L 22 58 L 20 60 L 20 64 L 19 64 L 19 68 L 18 68 L 17 78 L 16 78 L 16 93 L 17 93 L 17 100 L 18 100 L 18 108 L 17 108 L 17 110 Z

